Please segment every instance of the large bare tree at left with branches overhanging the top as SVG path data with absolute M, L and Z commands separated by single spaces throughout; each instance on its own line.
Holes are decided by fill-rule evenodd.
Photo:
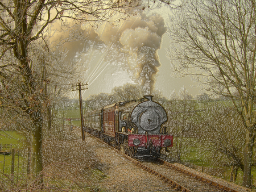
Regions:
M 117 24 L 118 20 L 136 14 L 133 9 L 141 3 L 140 0 L 10 0 L 0 3 L 0 107 L 3 111 L 15 108 L 20 119 L 30 120 L 34 130 L 31 136 L 36 173 L 43 168 L 43 118 L 51 120 L 52 98 L 60 97 L 58 94 L 66 88 L 59 85 L 69 84 L 70 74 L 76 69 L 72 64 L 67 65 L 69 70 L 63 68 L 65 53 L 52 52 L 44 36 L 47 27 L 56 20 L 65 27 L 70 27 L 72 22 L 90 22 L 92 26 L 101 22 Z M 40 40 L 44 45 L 41 46 Z

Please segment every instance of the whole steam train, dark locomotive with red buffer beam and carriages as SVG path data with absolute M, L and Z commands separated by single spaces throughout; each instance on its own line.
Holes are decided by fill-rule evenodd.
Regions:
M 145 95 L 87 112 L 84 130 L 131 157 L 155 160 L 161 148 L 172 147 L 165 122 L 164 108 L 152 101 L 151 95 Z

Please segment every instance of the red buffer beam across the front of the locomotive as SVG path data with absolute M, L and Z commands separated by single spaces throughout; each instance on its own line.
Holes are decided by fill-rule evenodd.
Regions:
M 152 146 L 172 147 L 172 135 L 144 135 L 131 134 L 128 136 L 128 145 L 133 147 L 145 147 L 152 142 Z

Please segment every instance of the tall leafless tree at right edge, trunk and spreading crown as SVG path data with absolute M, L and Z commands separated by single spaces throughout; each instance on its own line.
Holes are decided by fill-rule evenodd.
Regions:
M 167 55 L 179 76 L 232 99 L 246 130 L 243 186 L 251 186 L 256 128 L 256 9 L 253 0 L 186 1 L 170 19 Z

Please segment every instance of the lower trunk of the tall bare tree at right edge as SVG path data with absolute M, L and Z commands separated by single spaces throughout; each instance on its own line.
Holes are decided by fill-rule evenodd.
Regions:
M 246 130 L 245 150 L 243 152 L 243 183 L 245 187 L 251 186 L 251 158 L 253 157 L 254 134 Z

